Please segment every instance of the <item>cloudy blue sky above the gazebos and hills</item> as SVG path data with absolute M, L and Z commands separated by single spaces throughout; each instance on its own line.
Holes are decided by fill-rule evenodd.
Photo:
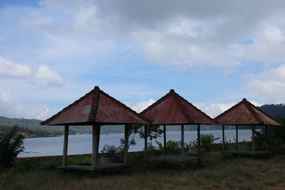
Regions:
M 283 103 L 285 1 L 0 1 L 0 115 L 44 120 L 95 85 L 138 112 L 172 88 L 212 117 Z

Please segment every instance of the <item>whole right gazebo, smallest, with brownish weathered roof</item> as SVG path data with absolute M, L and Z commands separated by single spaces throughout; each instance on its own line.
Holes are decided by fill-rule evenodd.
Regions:
M 273 118 L 266 113 L 262 112 L 259 108 L 254 106 L 247 99 L 243 99 L 237 105 L 229 108 L 229 110 L 223 112 L 221 115 L 218 115 L 214 120 L 217 124 L 222 125 L 222 151 L 223 154 L 244 154 L 244 155 L 258 155 L 258 154 L 269 154 L 267 146 L 267 126 L 268 125 L 280 125 L 279 122 L 276 122 Z M 224 135 L 224 126 L 225 125 L 235 125 L 236 126 L 236 150 L 226 151 L 224 147 L 225 135 Z M 252 150 L 239 150 L 239 134 L 238 126 L 251 126 L 252 129 Z M 265 126 L 265 135 L 266 135 L 266 146 L 265 151 L 257 151 L 255 149 L 255 127 L 256 125 Z

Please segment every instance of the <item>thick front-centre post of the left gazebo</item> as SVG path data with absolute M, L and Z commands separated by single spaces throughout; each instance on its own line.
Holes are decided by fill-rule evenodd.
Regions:
M 100 125 L 92 126 L 92 169 L 98 164 L 98 147 L 99 147 Z

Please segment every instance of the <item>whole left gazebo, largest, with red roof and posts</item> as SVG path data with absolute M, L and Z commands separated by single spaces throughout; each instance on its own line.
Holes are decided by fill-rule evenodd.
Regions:
M 64 125 L 63 160 L 60 169 L 95 170 L 123 167 L 128 159 L 128 126 L 147 124 L 148 120 L 138 115 L 114 97 L 95 86 L 93 90 L 53 115 L 41 125 Z M 92 125 L 92 164 L 68 165 L 68 127 L 70 125 Z M 125 151 L 123 163 L 98 163 L 98 147 L 101 125 L 125 125 Z

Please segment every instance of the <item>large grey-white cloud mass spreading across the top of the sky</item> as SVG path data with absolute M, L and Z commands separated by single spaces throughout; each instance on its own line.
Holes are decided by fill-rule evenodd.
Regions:
M 142 1 L 135 4 L 130 0 L 46 0 L 41 1 L 40 9 L 23 16 L 21 23 L 33 31 L 46 33 L 53 41 L 61 41 L 65 36 L 73 39 L 65 41 L 71 46 L 52 43 L 57 44 L 56 47 L 46 50 L 61 52 L 61 56 L 86 50 L 75 47 L 86 43 L 82 41 L 84 36 L 95 41 L 90 45 L 93 48 L 87 49 L 98 51 L 96 44 L 103 41 L 123 46 L 125 41 L 135 42 L 151 62 L 182 69 L 234 67 L 241 65 L 242 60 L 283 61 L 285 3 L 266 0 L 258 3 L 259 9 L 256 9 L 256 1 L 185 0 L 179 4 Z M 241 43 L 247 38 L 253 43 Z

